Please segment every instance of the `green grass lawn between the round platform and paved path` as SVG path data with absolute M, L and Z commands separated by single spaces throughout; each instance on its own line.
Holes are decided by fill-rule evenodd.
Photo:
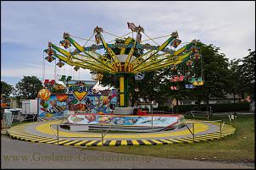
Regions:
M 217 119 L 230 124 L 227 116 L 214 116 L 210 118 L 210 120 Z M 235 122 L 232 125 L 235 126 Z M 254 115 L 237 115 L 237 129 L 235 134 L 231 134 L 231 136 L 227 136 L 222 140 L 175 145 L 93 146 L 85 149 L 177 159 L 254 162 L 254 136 Z

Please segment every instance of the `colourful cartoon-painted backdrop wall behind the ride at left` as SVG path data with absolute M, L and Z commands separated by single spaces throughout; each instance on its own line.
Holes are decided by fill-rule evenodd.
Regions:
M 69 112 L 105 114 L 114 112 L 117 105 L 117 90 L 109 95 L 88 94 L 80 101 L 71 94 L 52 94 L 48 101 L 39 100 L 38 120 L 53 120 L 67 117 Z

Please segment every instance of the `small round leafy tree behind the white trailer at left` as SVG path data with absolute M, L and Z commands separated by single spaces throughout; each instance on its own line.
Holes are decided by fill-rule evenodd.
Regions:
M 20 99 L 35 99 L 38 91 L 43 88 L 42 82 L 36 76 L 23 76 L 15 87 L 16 95 Z

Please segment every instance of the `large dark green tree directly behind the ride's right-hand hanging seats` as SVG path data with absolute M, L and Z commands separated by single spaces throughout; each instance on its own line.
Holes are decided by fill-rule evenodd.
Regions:
M 203 56 L 202 66 L 199 64 L 198 71 L 195 72 L 198 77 L 203 76 L 204 85 L 196 86 L 194 89 L 186 89 L 187 82 L 175 83 L 180 87 L 180 90 L 170 90 L 170 80 L 165 80 L 165 87 L 162 94 L 167 94 L 170 98 L 176 100 L 193 99 L 197 100 L 198 104 L 201 101 L 206 101 L 209 104 L 210 97 L 222 97 L 226 93 L 228 86 L 228 58 L 225 58 L 225 54 L 220 53 L 220 48 L 215 47 L 213 44 L 203 44 L 198 42 L 197 47 L 200 47 L 200 54 Z M 182 65 L 182 64 L 181 64 Z M 203 71 L 203 75 L 201 74 Z M 170 77 L 170 68 L 164 69 L 163 78 Z M 196 76 L 196 77 L 197 77 Z

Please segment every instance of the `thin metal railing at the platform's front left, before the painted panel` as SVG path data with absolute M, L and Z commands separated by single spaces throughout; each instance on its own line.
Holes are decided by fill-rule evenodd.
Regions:
M 53 134 L 55 135 L 55 137 L 57 138 L 57 143 L 59 143 L 59 138 L 101 138 L 102 140 L 102 146 L 103 146 L 103 140 L 106 134 L 108 134 L 109 129 L 103 134 L 103 124 L 108 124 L 109 129 L 111 129 L 113 127 L 113 124 L 109 124 L 109 123 L 83 123 L 83 124 L 75 124 L 75 125 L 101 125 L 101 136 L 59 136 L 59 127 L 60 126 L 70 126 L 72 124 L 63 124 L 63 123 L 58 123 L 58 124 L 50 124 L 50 129 L 53 131 Z M 57 130 L 57 134 L 54 133 L 54 129 L 53 126 L 56 126 L 56 130 Z

